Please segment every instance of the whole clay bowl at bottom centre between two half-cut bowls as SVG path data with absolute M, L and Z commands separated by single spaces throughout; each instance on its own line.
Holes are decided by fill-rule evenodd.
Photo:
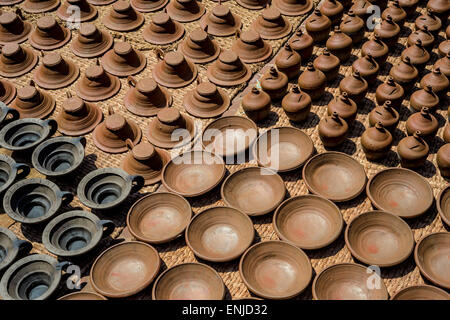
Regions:
M 265 299 L 289 299 L 309 284 L 312 267 L 308 256 L 283 241 L 264 241 L 250 247 L 239 262 L 247 288 Z

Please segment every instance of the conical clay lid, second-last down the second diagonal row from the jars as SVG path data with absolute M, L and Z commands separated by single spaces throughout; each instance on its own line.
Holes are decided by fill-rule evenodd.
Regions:
M 137 81 L 130 76 L 127 82 L 130 89 L 125 94 L 124 104 L 125 108 L 135 115 L 151 117 L 172 104 L 169 91 L 160 87 L 152 78 Z

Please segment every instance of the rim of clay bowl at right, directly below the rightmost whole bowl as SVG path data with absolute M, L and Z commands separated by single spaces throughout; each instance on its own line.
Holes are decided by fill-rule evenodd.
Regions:
M 350 228 L 352 226 L 352 224 L 354 224 L 356 221 L 358 221 L 359 219 L 363 219 L 363 218 L 373 218 L 372 215 L 373 214 L 381 214 L 384 216 L 384 220 L 383 222 L 385 224 L 389 224 L 389 219 L 392 220 L 397 220 L 401 225 L 403 225 L 405 227 L 404 230 L 401 230 L 402 232 L 407 232 L 409 234 L 409 240 L 410 240 L 410 248 L 408 249 L 407 254 L 405 254 L 402 257 L 397 257 L 397 259 L 395 261 L 391 261 L 391 262 L 379 262 L 379 263 L 372 263 L 373 261 L 370 261 L 369 259 L 364 258 L 363 256 L 361 256 L 353 247 L 352 243 L 350 243 L 349 240 L 349 232 L 350 232 Z M 366 222 L 366 227 L 367 227 L 367 222 Z M 411 228 L 409 227 L 409 225 L 399 216 L 396 216 L 395 214 L 392 214 L 390 212 L 387 211 L 382 211 L 382 210 L 371 210 L 371 211 L 367 211 L 364 212 L 354 218 L 352 218 L 350 220 L 350 222 L 347 224 L 347 227 L 345 228 L 345 233 L 344 233 L 344 239 L 345 239 L 345 244 L 347 246 L 347 248 L 349 249 L 350 253 L 352 254 L 352 256 L 354 256 L 358 261 L 361 261 L 367 265 L 373 265 L 376 264 L 379 267 L 392 267 L 395 265 L 398 265 L 400 263 L 402 263 L 403 261 L 405 261 L 406 259 L 408 259 L 408 257 L 411 255 L 411 253 L 414 251 L 414 245 L 415 245 L 415 241 L 414 241 L 414 235 L 413 232 L 411 230 Z

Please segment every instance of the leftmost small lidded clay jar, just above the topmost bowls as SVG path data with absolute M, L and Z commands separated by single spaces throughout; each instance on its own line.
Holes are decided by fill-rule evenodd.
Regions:
M 269 116 L 271 106 L 270 96 L 264 91 L 253 87 L 242 98 L 242 109 L 245 114 L 254 122 L 264 120 Z

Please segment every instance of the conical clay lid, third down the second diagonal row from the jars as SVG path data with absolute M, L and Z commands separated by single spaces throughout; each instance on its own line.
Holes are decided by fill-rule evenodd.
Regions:
M 262 62 L 272 55 L 272 46 L 264 41 L 258 32 L 252 29 L 242 33 L 238 31 L 236 36 L 237 39 L 231 49 L 237 53 L 243 62 Z

